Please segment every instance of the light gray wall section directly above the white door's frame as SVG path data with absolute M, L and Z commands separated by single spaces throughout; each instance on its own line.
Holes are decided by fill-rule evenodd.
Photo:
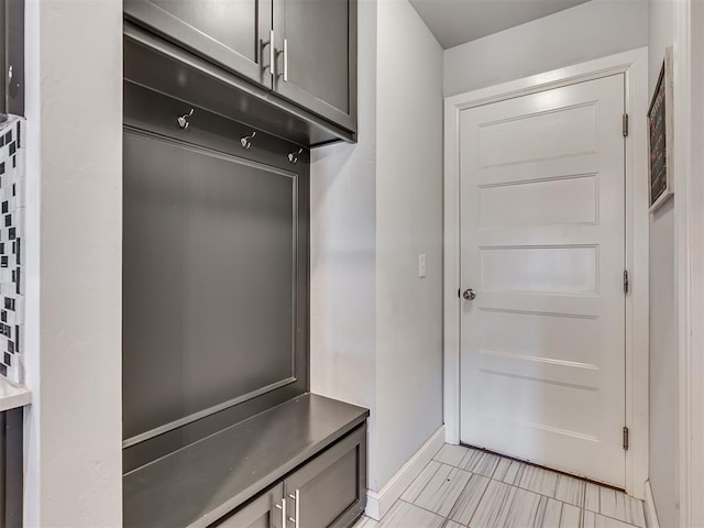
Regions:
M 592 0 L 444 52 L 444 95 L 648 44 L 646 0 Z

